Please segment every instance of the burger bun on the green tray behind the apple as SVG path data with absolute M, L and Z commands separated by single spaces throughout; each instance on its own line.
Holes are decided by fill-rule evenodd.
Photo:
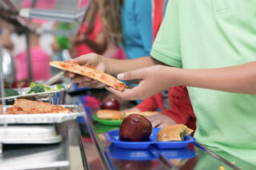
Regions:
M 99 119 L 122 120 L 124 115 L 118 110 L 103 109 L 96 113 Z

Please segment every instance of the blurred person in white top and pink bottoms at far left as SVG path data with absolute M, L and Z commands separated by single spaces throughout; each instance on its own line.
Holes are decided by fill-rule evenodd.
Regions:
M 38 22 L 33 22 L 34 28 L 41 26 Z M 30 32 L 30 60 L 32 70 L 32 81 L 46 81 L 50 78 L 50 42 L 53 38 L 44 37 L 35 32 Z M 9 49 L 14 56 L 17 70 L 17 81 L 27 81 L 29 78 L 26 35 L 23 30 L 15 30 L 12 26 L 7 26 L 2 33 L 2 46 Z

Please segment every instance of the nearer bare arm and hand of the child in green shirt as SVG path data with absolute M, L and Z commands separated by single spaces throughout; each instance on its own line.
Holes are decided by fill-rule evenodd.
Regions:
M 154 65 L 121 73 L 118 78 L 141 80 L 138 86 L 124 92 L 107 88 L 123 100 L 144 99 L 177 85 L 256 94 L 256 61 L 219 69 L 178 69 Z

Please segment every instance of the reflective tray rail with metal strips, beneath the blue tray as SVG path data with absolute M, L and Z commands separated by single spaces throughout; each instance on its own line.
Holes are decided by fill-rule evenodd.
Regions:
M 255 165 L 195 142 L 182 149 L 130 150 L 114 146 L 104 131 L 118 127 L 99 125 L 86 114 L 90 136 L 82 143 L 89 169 L 256 169 Z

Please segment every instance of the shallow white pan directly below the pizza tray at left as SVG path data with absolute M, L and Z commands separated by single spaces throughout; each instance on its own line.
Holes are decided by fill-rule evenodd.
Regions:
M 56 144 L 62 136 L 54 125 L 0 126 L 0 144 Z

